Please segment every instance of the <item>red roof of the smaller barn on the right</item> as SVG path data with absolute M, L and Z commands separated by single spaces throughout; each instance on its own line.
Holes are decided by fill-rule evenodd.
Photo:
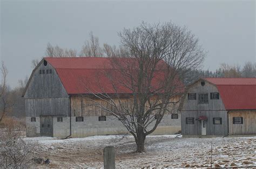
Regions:
M 217 86 L 226 110 L 256 110 L 256 78 L 205 78 Z

